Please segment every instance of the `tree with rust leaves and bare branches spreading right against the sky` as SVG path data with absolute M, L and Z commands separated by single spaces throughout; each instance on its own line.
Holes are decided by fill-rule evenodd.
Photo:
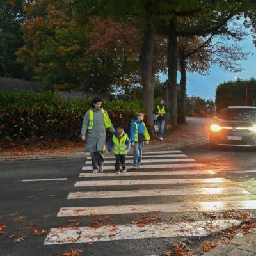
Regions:
M 235 29 L 233 29 L 235 31 Z M 236 29 L 237 39 L 240 40 L 247 33 L 242 29 Z M 243 52 L 243 47 L 239 47 L 236 41 L 224 36 L 209 36 L 207 39 L 198 38 L 179 38 L 179 65 L 180 65 L 180 100 L 178 124 L 186 122 L 185 118 L 185 97 L 186 97 L 186 70 L 189 72 L 199 72 L 207 74 L 211 65 L 220 65 L 224 70 L 232 72 L 241 71 L 238 60 L 247 58 L 250 52 Z

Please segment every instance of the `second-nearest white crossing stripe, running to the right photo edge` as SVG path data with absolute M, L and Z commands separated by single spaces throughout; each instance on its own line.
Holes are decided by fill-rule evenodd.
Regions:
M 62 207 L 58 217 L 89 216 L 90 214 L 138 214 L 148 212 L 204 212 L 255 209 L 256 200 L 246 201 L 214 201 L 214 202 L 182 202 L 170 204 L 144 205 L 107 205 L 95 207 Z

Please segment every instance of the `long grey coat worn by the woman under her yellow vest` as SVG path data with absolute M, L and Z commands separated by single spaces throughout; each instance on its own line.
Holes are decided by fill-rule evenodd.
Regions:
M 84 115 L 83 125 L 82 125 L 82 136 L 86 136 L 85 150 L 87 152 L 97 152 L 103 151 L 105 141 L 106 141 L 106 128 L 104 125 L 104 115 L 101 109 L 97 110 L 90 108 L 93 111 L 93 127 L 88 130 L 89 125 L 89 110 Z M 105 111 L 108 115 L 108 113 Z M 115 129 L 113 125 L 108 128 L 113 134 Z

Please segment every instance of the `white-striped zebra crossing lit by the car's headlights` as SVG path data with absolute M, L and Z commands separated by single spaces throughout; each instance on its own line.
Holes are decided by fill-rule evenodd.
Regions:
M 205 212 L 227 211 L 237 209 L 255 209 L 256 200 L 240 201 L 194 201 L 191 195 L 248 195 L 245 189 L 239 188 L 231 180 L 219 177 L 214 170 L 204 168 L 203 164 L 191 163 L 194 159 L 182 154 L 180 150 L 147 152 L 143 154 L 140 170 L 132 170 L 132 156 L 127 156 L 126 173 L 116 175 L 114 171 L 115 156 L 106 156 L 104 172 L 92 173 L 90 157 L 86 159 L 79 177 L 74 184 L 75 192 L 67 196 L 68 202 L 74 207 L 61 207 L 57 217 L 102 216 L 114 214 L 156 214 L 159 212 Z M 130 165 L 131 164 L 131 165 Z M 173 175 L 178 176 L 173 177 Z M 191 177 L 193 175 L 193 177 Z M 199 177 L 197 177 L 199 176 Z M 191 178 L 189 178 L 191 177 Z M 200 185 L 203 185 L 200 187 Z M 156 186 L 152 189 L 152 186 Z M 159 186 L 161 188 L 159 188 Z M 168 188 L 166 188 L 168 186 Z M 86 191 L 84 191 L 84 189 Z M 158 201 L 161 198 L 184 196 L 182 202 Z M 145 204 L 142 198 L 153 198 L 155 204 Z M 132 198 L 140 199 L 140 204 L 115 204 L 115 200 Z M 104 200 L 104 205 L 87 205 L 86 200 Z M 107 200 L 111 200 L 108 204 Z M 87 206 L 77 206 L 77 200 L 84 200 Z M 91 201 L 92 202 L 92 201 Z M 101 201 L 100 201 L 101 202 Z M 114 203 L 113 203 L 114 202 Z M 138 201 L 136 201 L 138 203 Z M 119 225 L 102 225 L 92 227 L 51 228 L 44 244 L 87 243 L 100 241 L 116 241 L 129 239 L 149 239 L 161 237 L 207 236 L 218 230 L 241 224 L 241 220 L 207 220 L 193 222 L 177 222 L 150 224 L 140 227 L 134 223 Z M 211 228 L 209 228 L 211 227 Z M 70 239 L 72 237 L 72 239 Z

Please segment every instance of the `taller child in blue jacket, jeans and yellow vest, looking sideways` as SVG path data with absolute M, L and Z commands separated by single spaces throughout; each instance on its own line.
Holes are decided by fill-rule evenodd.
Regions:
M 142 159 L 142 149 L 143 149 L 143 141 L 146 144 L 149 143 L 150 136 L 148 134 L 148 130 L 146 125 L 143 122 L 144 114 L 139 112 L 136 114 L 134 120 L 132 120 L 130 127 L 130 136 L 132 147 L 134 147 L 134 155 L 133 155 L 133 168 L 140 168 L 140 162 Z

